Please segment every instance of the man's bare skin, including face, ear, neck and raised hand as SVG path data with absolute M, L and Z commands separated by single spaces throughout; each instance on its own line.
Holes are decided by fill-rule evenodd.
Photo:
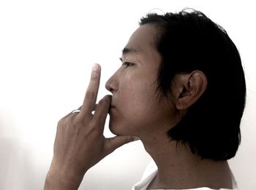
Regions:
M 207 79 L 201 71 L 177 74 L 170 87 L 172 96 L 159 99 L 156 89 L 161 56 L 154 47 L 157 32 L 154 25 L 143 25 L 132 34 L 121 57 L 123 64 L 106 83 L 113 95 L 105 96 L 98 105 L 99 66 L 92 71 L 80 113 L 68 114 L 58 124 L 45 189 L 78 189 L 90 167 L 135 136 L 158 167 L 148 189 L 232 187 L 227 162 L 200 159 L 186 145 L 176 146 L 167 138 L 166 131 L 206 90 Z M 110 139 L 103 135 L 108 113 L 110 130 L 116 134 Z

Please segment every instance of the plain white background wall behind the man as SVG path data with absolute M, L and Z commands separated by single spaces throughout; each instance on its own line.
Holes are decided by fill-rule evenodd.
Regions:
M 256 189 L 256 27 L 252 1 L 0 1 L 0 189 L 42 189 L 58 120 L 83 101 L 92 63 L 99 98 L 147 12 L 192 7 L 222 25 L 243 60 L 247 102 L 230 167 L 240 189 Z M 223 95 L 223 98 L 227 95 Z M 226 108 L 228 111 L 228 108 Z M 108 124 L 105 135 L 109 136 Z M 130 143 L 86 173 L 80 189 L 131 189 L 150 158 Z

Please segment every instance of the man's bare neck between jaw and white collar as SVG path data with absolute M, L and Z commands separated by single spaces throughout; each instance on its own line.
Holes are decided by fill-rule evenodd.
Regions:
M 232 189 L 227 161 L 201 159 L 189 147 L 170 141 L 167 135 L 141 138 L 143 145 L 158 167 L 151 189 L 189 189 L 209 187 Z

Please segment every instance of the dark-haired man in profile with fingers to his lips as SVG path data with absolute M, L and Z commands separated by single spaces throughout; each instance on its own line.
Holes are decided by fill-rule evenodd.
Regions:
M 83 175 L 140 138 L 157 168 L 132 189 L 236 189 L 227 159 L 240 143 L 246 85 L 233 41 L 202 12 L 143 17 L 96 104 L 94 64 L 83 106 L 59 121 L 45 189 L 78 189 Z M 94 111 L 94 114 L 91 114 Z M 114 138 L 103 129 L 110 114 Z

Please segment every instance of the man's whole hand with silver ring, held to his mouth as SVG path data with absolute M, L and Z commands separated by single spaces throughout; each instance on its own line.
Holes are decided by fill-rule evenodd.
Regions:
M 99 79 L 100 66 L 94 64 L 80 112 L 69 113 L 58 123 L 45 189 L 78 189 L 90 167 L 119 146 L 134 140 L 130 136 L 104 137 L 111 96 L 106 95 L 96 105 Z

